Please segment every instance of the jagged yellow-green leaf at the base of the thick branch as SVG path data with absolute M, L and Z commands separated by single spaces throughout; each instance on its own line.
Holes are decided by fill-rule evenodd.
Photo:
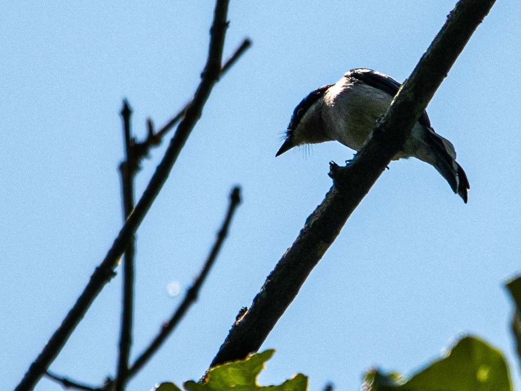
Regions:
M 297 374 L 279 386 L 262 387 L 257 384 L 257 376 L 275 350 L 266 350 L 244 360 L 228 362 L 208 371 L 204 383 L 188 381 L 184 388 L 188 391 L 305 391 L 307 377 Z

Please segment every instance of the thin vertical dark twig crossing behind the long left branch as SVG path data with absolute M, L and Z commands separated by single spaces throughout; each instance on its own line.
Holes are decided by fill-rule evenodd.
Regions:
M 123 119 L 123 135 L 125 136 L 125 160 L 120 164 L 121 191 L 123 203 L 123 223 L 134 209 L 134 177 L 137 173 L 138 162 L 133 153 L 134 140 L 130 130 L 130 116 L 132 110 L 128 102 L 123 101 L 121 117 Z M 134 254 L 135 236 L 132 236 L 125 256 L 123 256 L 123 294 L 121 311 L 121 331 L 119 337 L 119 357 L 117 366 L 117 381 L 115 391 L 123 391 L 125 378 L 128 371 L 130 348 L 132 346 L 132 309 L 134 303 Z

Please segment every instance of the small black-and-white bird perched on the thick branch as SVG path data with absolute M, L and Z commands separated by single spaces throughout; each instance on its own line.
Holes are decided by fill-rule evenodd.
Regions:
M 366 68 L 351 69 L 336 83 L 322 85 L 295 107 L 276 156 L 295 146 L 334 140 L 358 151 L 400 87 L 393 78 Z M 467 203 L 470 185 L 462 166 L 456 162 L 454 145 L 434 131 L 425 111 L 402 151 L 392 160 L 409 157 L 436 168 L 454 193 Z

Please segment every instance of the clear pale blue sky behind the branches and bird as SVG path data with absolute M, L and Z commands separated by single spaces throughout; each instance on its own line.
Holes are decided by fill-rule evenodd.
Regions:
M 403 81 L 455 0 L 232 0 L 225 45 L 253 47 L 212 92 L 138 231 L 135 357 L 199 271 L 234 184 L 243 204 L 200 299 L 129 391 L 199 378 L 331 186 L 315 145 L 275 158 L 294 106 L 343 72 Z M 214 2 L 0 4 L 0 384 L 12 389 L 101 262 L 121 226 L 121 100 L 133 129 L 162 125 L 192 95 Z M 519 272 L 521 139 L 517 0 L 498 0 L 429 104 L 471 186 L 468 204 L 432 167 L 393 162 L 278 322 L 261 377 L 309 376 L 358 389 L 370 366 L 410 374 L 473 333 L 518 363 L 504 281 Z M 137 196 L 164 147 L 143 163 Z M 116 368 L 121 270 L 51 365 L 100 384 Z M 516 380 L 519 384 L 519 382 Z M 60 387 L 43 379 L 36 390 Z

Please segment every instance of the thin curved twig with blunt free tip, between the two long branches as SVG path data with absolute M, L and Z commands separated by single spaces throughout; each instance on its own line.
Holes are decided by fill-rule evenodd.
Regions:
M 222 243 L 224 242 L 226 236 L 228 235 L 228 228 L 230 226 L 231 219 L 237 209 L 237 206 L 241 202 L 240 189 L 238 187 L 233 188 L 230 194 L 230 204 L 228 206 L 228 212 L 226 213 L 226 217 L 224 222 L 222 223 L 221 229 L 217 234 L 216 241 L 214 246 L 212 247 L 212 251 L 210 251 L 206 262 L 201 270 L 201 273 L 195 278 L 192 286 L 187 290 L 186 295 L 184 296 L 183 301 L 177 308 L 176 312 L 173 313 L 170 320 L 163 324 L 159 334 L 154 338 L 150 346 L 148 346 L 135 360 L 134 364 L 129 369 L 128 377 L 134 376 L 146 362 L 154 355 L 154 353 L 159 349 L 159 347 L 163 344 L 165 339 L 171 334 L 173 329 L 179 324 L 185 313 L 187 313 L 190 306 L 197 300 L 197 295 L 199 295 L 199 290 L 210 271 L 210 268 L 214 264 L 217 255 L 221 249 Z

